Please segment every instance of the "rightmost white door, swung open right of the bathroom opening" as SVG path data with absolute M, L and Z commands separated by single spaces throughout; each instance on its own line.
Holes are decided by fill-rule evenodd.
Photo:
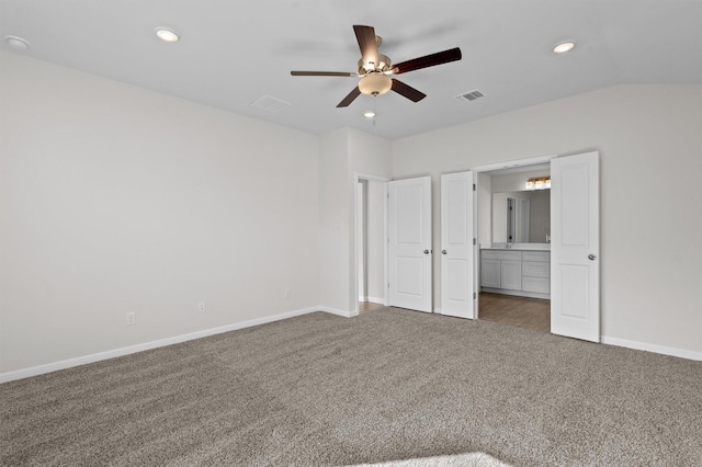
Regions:
M 599 155 L 551 161 L 551 332 L 600 341 Z

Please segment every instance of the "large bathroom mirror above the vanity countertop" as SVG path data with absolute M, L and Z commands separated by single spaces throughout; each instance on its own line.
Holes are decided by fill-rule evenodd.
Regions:
M 548 243 L 550 237 L 551 190 L 492 193 L 494 243 Z

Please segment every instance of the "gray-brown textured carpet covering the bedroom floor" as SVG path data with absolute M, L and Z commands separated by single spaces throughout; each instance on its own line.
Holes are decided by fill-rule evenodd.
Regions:
M 2 465 L 702 465 L 702 364 L 315 312 L 0 385 Z

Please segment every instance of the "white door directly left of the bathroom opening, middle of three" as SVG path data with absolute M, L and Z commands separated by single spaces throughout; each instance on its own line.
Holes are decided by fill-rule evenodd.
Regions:
M 441 175 L 441 314 L 474 315 L 473 172 Z

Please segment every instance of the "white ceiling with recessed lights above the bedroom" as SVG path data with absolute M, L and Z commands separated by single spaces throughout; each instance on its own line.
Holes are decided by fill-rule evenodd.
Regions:
M 390 92 L 337 109 L 356 78 L 290 71 L 355 71 L 353 24 L 374 26 L 394 62 L 463 59 L 403 75 L 419 103 Z M 19 54 L 237 114 L 388 139 L 618 83 L 702 82 L 702 0 L 0 0 L 0 34 L 31 43 Z M 553 54 L 563 39 L 576 48 Z M 454 99 L 473 90 L 485 96 Z M 292 105 L 251 106 L 264 95 Z M 375 125 L 362 116 L 374 99 Z

